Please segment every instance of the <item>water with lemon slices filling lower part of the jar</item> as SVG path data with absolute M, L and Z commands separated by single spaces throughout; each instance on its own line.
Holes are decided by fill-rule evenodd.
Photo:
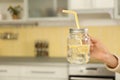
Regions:
M 67 60 L 70 63 L 84 64 L 89 61 L 89 45 L 69 45 Z

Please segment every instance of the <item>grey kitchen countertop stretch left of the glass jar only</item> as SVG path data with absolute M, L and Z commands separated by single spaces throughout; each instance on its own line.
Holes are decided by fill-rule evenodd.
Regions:
M 1 57 L 0 64 L 67 64 L 65 58 L 49 58 L 49 57 Z

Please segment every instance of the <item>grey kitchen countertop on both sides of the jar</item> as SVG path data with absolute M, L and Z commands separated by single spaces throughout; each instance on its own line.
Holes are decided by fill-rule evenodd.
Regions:
M 68 63 L 66 58 L 60 57 L 0 57 L 0 63 L 4 64 L 45 64 L 45 63 L 59 63 L 64 64 Z M 103 64 L 98 60 L 90 60 L 88 64 Z

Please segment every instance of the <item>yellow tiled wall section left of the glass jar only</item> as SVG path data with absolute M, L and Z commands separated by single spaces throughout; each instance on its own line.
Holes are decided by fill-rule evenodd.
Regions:
M 66 56 L 66 36 L 68 27 L 13 27 L 0 28 L 0 33 L 17 32 L 17 40 L 0 39 L 0 56 L 36 55 L 34 44 L 37 40 L 49 43 L 49 56 Z

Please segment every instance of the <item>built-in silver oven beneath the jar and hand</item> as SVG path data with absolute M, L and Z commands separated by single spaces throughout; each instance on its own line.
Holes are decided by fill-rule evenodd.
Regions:
M 70 64 L 69 80 L 115 80 L 115 73 L 104 64 Z

